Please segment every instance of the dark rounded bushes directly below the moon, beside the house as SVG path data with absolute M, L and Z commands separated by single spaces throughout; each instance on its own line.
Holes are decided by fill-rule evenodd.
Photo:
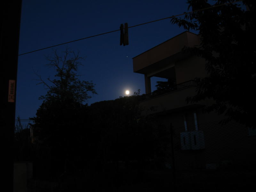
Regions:
M 96 159 L 111 161 L 146 161 L 165 158 L 168 134 L 154 116 L 142 116 L 140 96 L 101 101 L 89 107 L 91 127 L 100 135 Z M 95 141 L 95 139 L 94 139 Z

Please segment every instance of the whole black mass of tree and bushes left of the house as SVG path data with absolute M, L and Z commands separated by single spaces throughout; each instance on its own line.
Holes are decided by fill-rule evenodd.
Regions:
M 90 98 L 87 92 L 96 93 L 93 84 L 76 87 L 76 62 L 67 60 L 68 64 L 60 67 L 57 60 L 62 61 L 57 55 L 50 60 L 59 77 L 50 80 L 52 86 L 39 76 L 40 83 L 49 89 L 41 97 L 44 101 L 36 117 L 31 118 L 33 145 L 37 149 L 33 159 L 36 177 L 65 180 L 87 175 L 94 178 L 95 174 L 109 169 L 111 162 L 135 161 L 140 165 L 149 159 L 164 162 L 169 136 L 153 116 L 141 115 L 140 90 L 130 97 L 88 106 L 82 101 Z M 77 89 L 84 91 L 77 92 Z

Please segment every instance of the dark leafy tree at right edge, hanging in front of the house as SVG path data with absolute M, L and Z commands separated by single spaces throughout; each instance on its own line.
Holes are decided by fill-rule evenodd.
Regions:
M 188 8 L 195 11 L 228 2 L 234 0 L 215 0 L 213 5 L 207 0 L 189 0 Z M 172 18 L 171 22 L 186 30 L 198 31 L 200 46 L 183 51 L 206 60 L 208 76 L 196 78 L 200 85 L 197 95 L 187 101 L 214 99 L 215 104 L 205 108 L 205 112 L 226 115 L 221 123 L 236 120 L 248 127 L 256 127 L 253 120 L 256 112 L 253 92 L 256 85 L 256 4 L 250 0 L 241 3 L 247 6 L 247 10 L 232 3 L 189 13 L 184 19 Z

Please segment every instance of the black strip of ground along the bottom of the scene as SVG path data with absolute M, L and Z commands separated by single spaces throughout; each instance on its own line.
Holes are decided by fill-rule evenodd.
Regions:
M 66 177 L 58 182 L 31 179 L 28 192 L 244 192 L 254 191 L 256 186 L 255 171 L 187 170 L 177 171 L 174 177 L 175 182 L 172 170 L 99 172 L 90 176 Z

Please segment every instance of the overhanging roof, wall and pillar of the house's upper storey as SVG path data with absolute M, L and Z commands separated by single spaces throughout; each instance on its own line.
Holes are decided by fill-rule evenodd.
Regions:
M 145 99 L 163 94 L 151 93 L 151 77 L 175 79 L 180 84 L 207 75 L 202 58 L 182 51 L 184 47 L 195 47 L 199 44 L 198 35 L 185 31 L 132 58 L 133 72 L 143 74 L 145 78 L 145 92 L 150 94 L 144 96 Z

